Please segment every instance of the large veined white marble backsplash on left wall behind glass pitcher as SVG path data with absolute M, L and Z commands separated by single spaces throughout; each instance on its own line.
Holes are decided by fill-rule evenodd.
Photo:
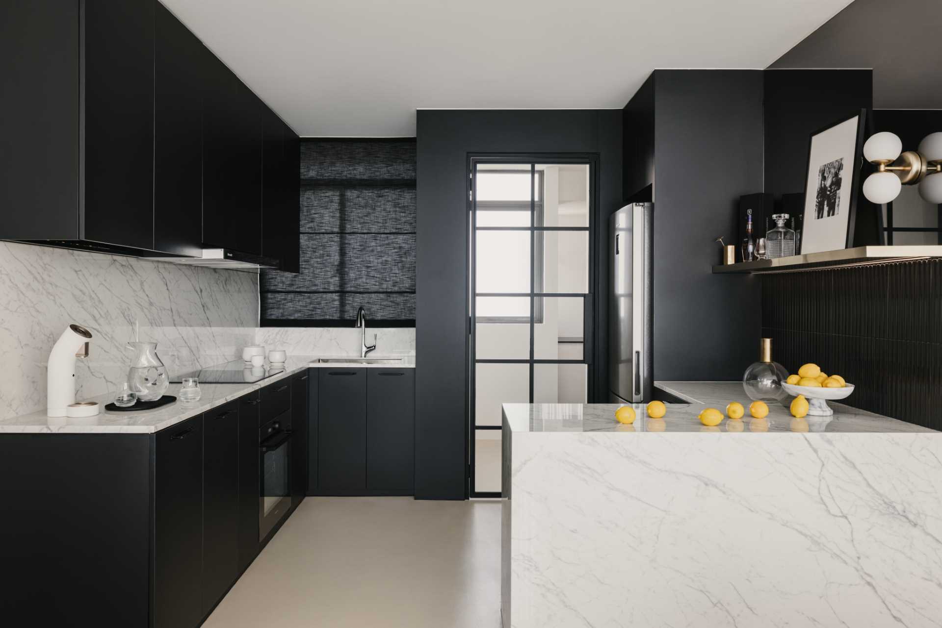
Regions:
M 88 328 L 76 396 L 116 390 L 125 343 L 157 343 L 171 373 L 235 359 L 255 340 L 258 274 L 0 242 L 0 419 L 45 407 L 46 362 L 70 323 Z

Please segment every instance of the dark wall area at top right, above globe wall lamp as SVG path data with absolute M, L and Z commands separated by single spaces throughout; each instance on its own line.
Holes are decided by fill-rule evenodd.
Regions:
M 873 68 L 873 106 L 942 107 L 938 0 L 856 0 L 770 68 Z

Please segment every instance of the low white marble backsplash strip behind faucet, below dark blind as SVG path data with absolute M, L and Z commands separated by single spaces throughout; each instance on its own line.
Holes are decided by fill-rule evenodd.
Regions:
M 414 355 L 415 328 L 371 328 L 366 322 L 366 343 L 376 350 L 371 355 Z M 284 349 L 289 355 L 358 356 L 361 330 L 353 327 L 263 327 L 255 335 L 255 344 L 266 350 Z

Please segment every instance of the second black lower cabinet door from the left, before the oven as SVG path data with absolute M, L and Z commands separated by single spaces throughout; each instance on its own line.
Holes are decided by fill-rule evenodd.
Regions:
M 238 401 L 203 414 L 203 613 L 238 575 Z

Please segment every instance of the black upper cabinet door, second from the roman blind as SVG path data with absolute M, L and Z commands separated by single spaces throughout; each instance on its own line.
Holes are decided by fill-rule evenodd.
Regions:
M 203 47 L 203 244 L 262 252 L 262 110 Z

